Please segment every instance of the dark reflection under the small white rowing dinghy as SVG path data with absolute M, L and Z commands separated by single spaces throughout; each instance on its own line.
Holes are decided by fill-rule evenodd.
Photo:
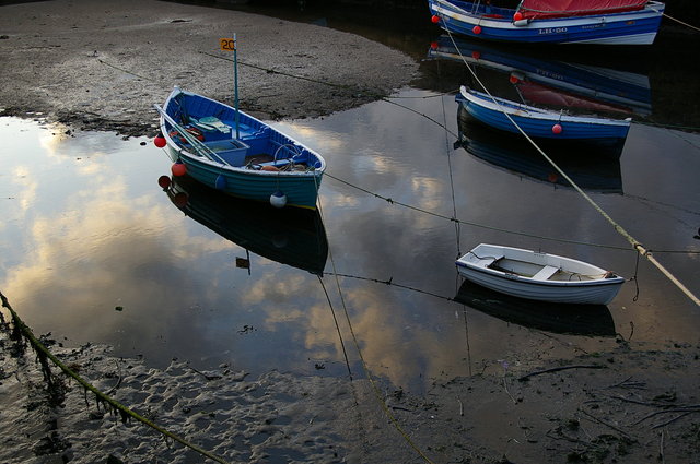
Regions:
M 528 329 L 551 333 L 615 336 L 615 321 L 606 306 L 534 301 L 503 295 L 465 281 L 455 301 Z

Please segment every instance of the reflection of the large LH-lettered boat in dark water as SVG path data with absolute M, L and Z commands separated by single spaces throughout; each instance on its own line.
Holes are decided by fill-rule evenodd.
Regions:
M 594 63 L 591 55 L 583 57 L 567 50 L 567 61 L 552 60 L 535 50 L 517 52 L 486 46 L 470 40 L 441 36 L 429 50 L 432 58 L 466 61 L 478 69 L 495 71 L 497 81 L 512 87 L 523 103 L 571 112 L 617 117 L 646 117 L 652 112 L 649 76 Z M 584 60 L 585 63 L 575 62 Z M 510 83 L 510 84 L 509 84 Z M 498 84 L 490 80 L 487 86 Z M 495 85 L 495 87 L 502 87 Z M 478 88 L 478 86 L 475 86 Z M 511 88 L 511 93 L 513 88 Z M 509 98 L 509 95 L 499 95 Z M 512 98 L 511 98 L 512 99 Z

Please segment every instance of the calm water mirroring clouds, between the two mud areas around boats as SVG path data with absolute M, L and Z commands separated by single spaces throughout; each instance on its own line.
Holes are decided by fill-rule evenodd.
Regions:
M 254 374 L 345 376 L 347 356 L 362 376 L 359 346 L 372 374 L 416 391 L 504 360 L 603 350 L 615 333 L 653 346 L 698 343 L 698 307 L 645 260 L 638 266 L 625 239 L 524 142 L 470 121 L 454 93 L 442 93 L 460 72 L 464 83 L 471 78 L 454 58 L 429 57 L 439 35 L 422 46 L 423 83 L 442 82 L 435 90 L 419 83 L 388 102 L 275 123 L 328 163 L 319 217 L 270 219 L 277 212 L 262 205 L 198 191 L 184 206 L 159 187 L 170 163 L 148 139 L 0 119 L 0 289 L 37 334 L 69 345 L 107 343 L 154 366 L 176 357 Z M 517 95 L 511 71 L 478 72 Z M 644 87 L 648 75 L 633 73 Z M 665 85 L 674 88 L 663 95 L 684 85 L 697 93 L 690 75 Z M 657 112 L 677 126 L 697 120 L 677 100 L 641 99 L 634 121 Z M 634 122 L 618 146 L 547 150 L 633 237 L 674 251 L 656 257 L 700 294 L 697 130 Z M 639 294 L 626 283 L 595 317 L 568 319 L 551 318 L 557 308 L 460 292 L 454 260 L 479 242 L 637 275 Z

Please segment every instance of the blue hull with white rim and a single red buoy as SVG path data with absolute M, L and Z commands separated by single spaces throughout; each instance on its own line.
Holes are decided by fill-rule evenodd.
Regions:
M 495 129 L 542 139 L 602 140 L 626 139 L 630 120 L 567 116 L 518 105 L 504 98 L 489 97 L 480 92 L 462 88 L 457 100 L 475 119 Z M 506 116 L 508 114 L 508 116 Z M 517 127 L 513 123 L 517 124 Z

